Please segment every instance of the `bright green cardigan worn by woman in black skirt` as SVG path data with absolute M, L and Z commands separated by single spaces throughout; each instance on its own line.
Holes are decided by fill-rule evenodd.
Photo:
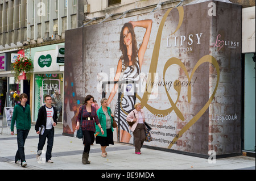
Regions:
M 110 107 L 107 107 L 108 108 L 108 113 L 109 113 L 109 116 L 111 117 L 111 109 Z M 100 134 L 98 134 L 98 136 L 102 136 L 102 137 L 106 137 L 106 115 L 105 113 L 103 112 L 102 110 L 102 107 L 100 109 L 98 109 L 97 111 L 97 115 L 98 115 L 98 119 L 100 120 L 100 124 L 101 124 L 101 127 L 104 131 L 104 134 L 101 134 L 101 130 L 100 128 L 96 125 L 96 132 L 100 132 Z M 112 132 L 114 131 L 113 129 L 113 119 L 111 117 L 111 128 L 112 128 Z

